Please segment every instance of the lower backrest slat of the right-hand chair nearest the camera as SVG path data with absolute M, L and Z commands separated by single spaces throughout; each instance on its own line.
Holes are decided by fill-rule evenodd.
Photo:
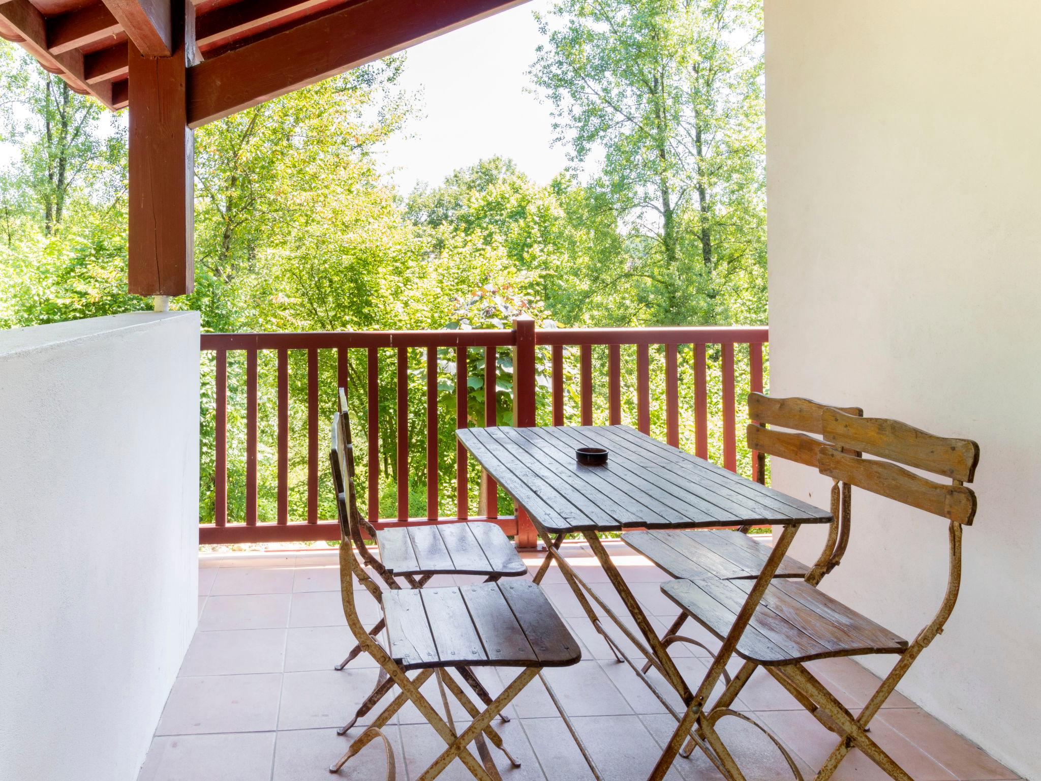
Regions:
M 975 515 L 975 494 L 964 485 L 938 483 L 895 463 L 857 458 L 827 445 L 818 459 L 821 474 L 858 488 L 966 526 Z

